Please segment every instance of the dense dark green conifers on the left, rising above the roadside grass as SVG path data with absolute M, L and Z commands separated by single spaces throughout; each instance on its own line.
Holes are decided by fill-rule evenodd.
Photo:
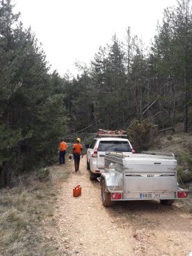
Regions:
M 19 16 L 10 0 L 0 1 L 1 176 L 47 162 L 67 129 L 64 95 L 55 89 L 62 80 L 48 74 L 46 56 Z

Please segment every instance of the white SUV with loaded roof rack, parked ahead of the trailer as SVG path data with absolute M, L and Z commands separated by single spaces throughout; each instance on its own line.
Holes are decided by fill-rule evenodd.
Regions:
M 94 180 L 104 172 L 104 156 L 106 151 L 134 153 L 127 135 L 102 134 L 97 135 L 90 145 L 86 145 L 87 169 L 90 170 L 90 180 Z

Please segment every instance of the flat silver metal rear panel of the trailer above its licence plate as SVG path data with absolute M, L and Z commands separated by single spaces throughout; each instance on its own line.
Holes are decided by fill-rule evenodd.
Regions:
M 176 191 L 175 160 L 132 159 L 125 165 L 125 191 Z

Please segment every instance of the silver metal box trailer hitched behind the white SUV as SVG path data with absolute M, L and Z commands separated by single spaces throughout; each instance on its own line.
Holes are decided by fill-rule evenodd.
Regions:
M 104 206 L 112 206 L 114 201 L 138 200 L 172 205 L 175 199 L 188 196 L 188 191 L 177 182 L 177 160 L 173 153 L 106 152 L 104 173 L 99 180 Z

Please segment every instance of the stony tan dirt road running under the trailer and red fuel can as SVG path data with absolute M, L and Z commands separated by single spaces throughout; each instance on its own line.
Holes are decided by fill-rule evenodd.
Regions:
M 192 215 L 187 203 L 162 206 L 156 201 L 118 203 L 102 206 L 99 182 L 89 180 L 81 160 L 80 171 L 74 163 L 57 166 L 69 170 L 67 182 L 60 184 L 53 229 L 58 255 L 79 256 L 188 256 L 192 251 Z M 72 196 L 81 184 L 82 195 Z

